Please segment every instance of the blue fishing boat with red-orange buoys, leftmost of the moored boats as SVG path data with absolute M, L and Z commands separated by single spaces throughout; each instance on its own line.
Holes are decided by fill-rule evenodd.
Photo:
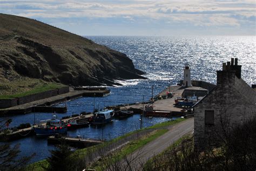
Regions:
M 64 122 L 52 115 L 52 119 L 40 121 L 40 124 L 33 127 L 37 136 L 65 134 L 68 127 Z

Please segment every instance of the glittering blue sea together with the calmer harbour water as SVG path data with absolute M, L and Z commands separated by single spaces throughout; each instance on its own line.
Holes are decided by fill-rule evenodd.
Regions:
M 151 97 L 151 87 L 156 95 L 166 86 L 176 85 L 183 77 L 185 64 L 190 65 L 193 80 L 203 80 L 216 83 L 216 71 L 221 70 L 222 63 L 238 58 L 242 65 L 242 79 L 248 85 L 256 84 L 256 37 L 255 36 L 85 36 L 93 42 L 105 45 L 111 49 L 125 53 L 132 59 L 136 69 L 146 72 L 148 79 L 133 79 L 120 81 L 123 86 L 107 87 L 111 93 L 102 98 L 95 98 L 96 106 L 129 104 Z M 59 118 L 93 111 L 93 98 L 83 97 L 67 101 L 68 112 L 57 114 Z M 65 105 L 64 103 L 59 106 Z M 11 115 L 10 127 L 19 124 L 33 124 L 34 121 L 50 119 L 51 113 L 29 113 Z M 104 127 L 86 127 L 69 131 L 70 136 L 85 136 L 86 138 L 106 139 L 117 138 L 140 128 L 140 116 L 118 120 Z M 0 118 L 6 119 L 4 117 Z M 144 118 L 144 127 L 149 127 L 167 118 Z M 20 144 L 20 156 L 36 155 L 31 162 L 43 160 L 55 149 L 48 145 L 46 138 L 31 136 L 11 142 L 11 146 Z

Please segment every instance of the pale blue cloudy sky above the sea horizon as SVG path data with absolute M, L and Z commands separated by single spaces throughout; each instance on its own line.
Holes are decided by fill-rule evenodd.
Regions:
M 255 0 L 0 0 L 0 13 L 81 36 L 256 35 Z

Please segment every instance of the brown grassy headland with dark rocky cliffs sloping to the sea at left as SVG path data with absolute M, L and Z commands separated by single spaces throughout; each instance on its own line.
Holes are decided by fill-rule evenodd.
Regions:
M 125 54 L 33 19 L 0 14 L 0 79 L 71 85 L 144 79 Z

